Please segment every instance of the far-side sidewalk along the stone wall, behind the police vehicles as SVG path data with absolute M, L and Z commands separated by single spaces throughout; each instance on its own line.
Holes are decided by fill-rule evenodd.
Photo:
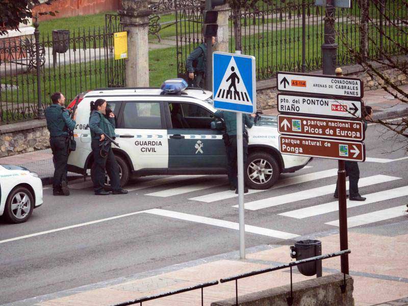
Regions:
M 403 85 L 400 88 L 408 91 L 408 85 Z M 388 92 L 383 89 L 366 91 L 364 98 L 366 105 L 373 108 L 373 119 L 385 119 L 398 115 L 408 114 L 408 105 L 401 103 L 398 99 L 394 99 Z M 276 108 L 264 110 L 265 115 L 278 114 Z M 40 150 L 10 157 L 0 158 L 0 164 L 23 166 L 38 173 L 43 180 L 43 184 L 50 184 L 50 179 L 54 174 L 54 164 L 50 149 Z M 78 176 L 75 173 L 68 173 L 70 176 Z

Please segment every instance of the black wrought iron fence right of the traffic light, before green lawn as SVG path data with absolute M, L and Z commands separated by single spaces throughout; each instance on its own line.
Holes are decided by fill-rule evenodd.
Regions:
M 363 4 L 367 2 L 365 6 Z M 362 25 L 367 26 L 367 55 L 399 55 L 393 40 L 407 44 L 406 0 L 352 0 L 350 9 L 336 9 L 338 65 L 354 63 L 349 48 L 360 51 Z M 230 15 L 230 52 L 257 58 L 257 78 L 272 78 L 279 70 L 313 71 L 322 68 L 324 7 L 313 0 L 259 1 Z

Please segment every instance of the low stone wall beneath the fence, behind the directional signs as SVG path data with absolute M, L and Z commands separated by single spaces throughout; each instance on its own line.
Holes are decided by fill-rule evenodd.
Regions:
M 401 57 L 402 60 L 408 60 L 408 57 Z M 390 69 L 388 67 L 381 67 L 379 64 L 375 65 L 382 73 L 384 73 L 397 86 L 408 84 L 406 76 L 398 69 Z M 372 80 L 372 78 L 365 72 L 360 65 L 344 66 L 343 75 L 352 78 L 360 78 L 364 83 L 364 91 L 380 89 L 381 84 L 384 83 L 379 78 Z M 322 74 L 323 71 L 315 71 L 315 74 Z M 257 109 L 265 110 L 276 108 L 277 86 L 276 79 L 270 79 L 257 82 Z

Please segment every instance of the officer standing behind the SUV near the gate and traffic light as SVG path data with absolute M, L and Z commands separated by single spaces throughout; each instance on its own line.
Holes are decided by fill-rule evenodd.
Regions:
M 215 37 L 212 37 L 212 44 L 213 45 L 215 44 Z M 191 80 L 191 82 L 193 82 L 194 86 L 196 87 L 205 88 L 206 71 L 207 71 L 207 44 L 206 43 L 200 44 L 187 57 L 186 67 L 187 67 L 189 81 Z M 191 84 L 191 82 L 188 82 L 188 83 Z

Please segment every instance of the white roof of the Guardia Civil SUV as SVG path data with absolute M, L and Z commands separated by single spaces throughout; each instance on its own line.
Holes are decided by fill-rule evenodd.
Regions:
M 212 97 L 212 92 L 208 90 L 203 90 L 199 88 L 188 88 L 179 94 L 162 94 L 162 90 L 158 87 L 127 87 L 127 88 L 99 88 L 88 91 L 85 97 L 96 97 L 96 96 L 158 96 L 163 97 L 189 97 L 199 100 L 205 100 Z

